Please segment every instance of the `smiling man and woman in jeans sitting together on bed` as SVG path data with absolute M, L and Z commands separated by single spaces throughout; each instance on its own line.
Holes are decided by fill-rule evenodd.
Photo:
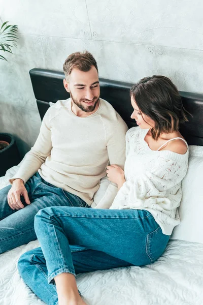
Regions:
M 145 77 L 132 86 L 131 118 L 138 127 L 127 131 L 99 97 L 89 52 L 71 54 L 63 70 L 71 98 L 48 109 L 12 186 L 0 191 L 0 252 L 39 239 L 41 248 L 23 254 L 18 268 L 50 305 L 85 304 L 77 273 L 142 266 L 162 255 L 180 222 L 188 166 L 179 132 L 186 111 L 170 79 Z M 105 208 L 91 208 L 106 173 L 118 193 L 108 208 L 105 197 Z

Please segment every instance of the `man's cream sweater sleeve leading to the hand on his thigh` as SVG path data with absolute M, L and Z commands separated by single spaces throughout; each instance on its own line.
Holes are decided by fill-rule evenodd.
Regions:
M 41 165 L 45 162 L 46 158 L 50 155 L 52 149 L 50 120 L 52 110 L 49 108 L 45 113 L 40 128 L 40 134 L 31 148 L 22 160 L 21 166 L 17 173 L 9 180 L 12 184 L 14 179 L 20 178 L 26 181 L 35 174 Z

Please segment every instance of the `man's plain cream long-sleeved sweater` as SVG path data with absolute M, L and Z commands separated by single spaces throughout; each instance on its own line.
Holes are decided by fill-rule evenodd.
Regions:
M 72 112 L 71 99 L 58 101 L 47 110 L 35 145 L 10 182 L 21 178 L 25 183 L 38 171 L 90 205 L 108 163 L 124 167 L 126 131 L 121 116 L 103 99 L 87 117 Z

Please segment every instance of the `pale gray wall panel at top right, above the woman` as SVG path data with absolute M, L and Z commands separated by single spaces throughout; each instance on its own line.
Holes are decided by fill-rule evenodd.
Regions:
M 93 39 L 202 49 L 202 1 L 86 0 Z

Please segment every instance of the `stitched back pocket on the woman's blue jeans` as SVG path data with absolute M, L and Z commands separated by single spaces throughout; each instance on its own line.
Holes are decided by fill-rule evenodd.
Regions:
M 162 233 L 160 226 L 147 235 L 146 253 L 151 262 L 154 262 L 163 254 L 169 238 L 169 235 Z

